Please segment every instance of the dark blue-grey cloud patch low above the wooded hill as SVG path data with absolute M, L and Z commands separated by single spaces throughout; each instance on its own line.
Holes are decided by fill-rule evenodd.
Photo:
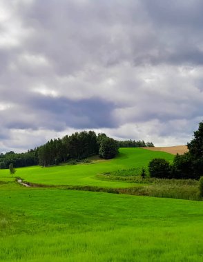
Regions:
M 56 130 L 62 130 L 66 126 L 79 129 L 117 127 L 111 115 L 115 105 L 101 99 L 72 101 L 63 97 L 32 97 L 29 108 L 39 110 L 39 114 L 47 117 L 43 119 L 45 128 L 49 125 Z

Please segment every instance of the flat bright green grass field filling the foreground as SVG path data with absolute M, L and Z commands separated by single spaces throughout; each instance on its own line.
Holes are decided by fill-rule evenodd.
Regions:
M 203 261 L 203 203 L 0 185 L 0 261 Z

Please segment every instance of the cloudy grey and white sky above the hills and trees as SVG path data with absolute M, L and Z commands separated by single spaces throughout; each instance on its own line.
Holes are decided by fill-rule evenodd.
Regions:
M 0 0 L 0 152 L 82 130 L 191 141 L 202 13 L 202 0 Z

